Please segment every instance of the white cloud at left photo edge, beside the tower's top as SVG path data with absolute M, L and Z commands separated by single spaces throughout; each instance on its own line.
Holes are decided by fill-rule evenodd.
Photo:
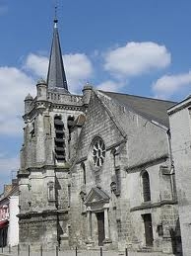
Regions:
M 34 93 L 34 81 L 15 67 L 0 67 L 0 134 L 17 135 L 22 131 L 24 99 Z

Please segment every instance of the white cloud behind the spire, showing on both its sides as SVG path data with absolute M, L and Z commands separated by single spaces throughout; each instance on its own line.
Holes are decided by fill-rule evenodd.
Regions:
M 91 60 L 84 53 L 65 54 L 63 59 L 70 92 L 81 92 L 84 83 L 94 72 Z M 48 61 L 45 56 L 31 53 L 24 68 L 38 77 L 46 78 Z

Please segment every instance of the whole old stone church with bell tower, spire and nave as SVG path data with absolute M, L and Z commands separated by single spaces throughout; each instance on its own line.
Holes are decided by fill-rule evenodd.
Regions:
M 71 94 L 55 20 L 47 80 L 25 99 L 21 246 L 177 255 L 174 104 L 90 84 Z

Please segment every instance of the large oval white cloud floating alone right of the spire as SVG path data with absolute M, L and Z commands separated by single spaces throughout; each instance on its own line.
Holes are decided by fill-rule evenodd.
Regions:
M 116 77 L 136 76 L 168 66 L 170 53 L 164 45 L 153 42 L 127 43 L 104 54 L 104 69 Z

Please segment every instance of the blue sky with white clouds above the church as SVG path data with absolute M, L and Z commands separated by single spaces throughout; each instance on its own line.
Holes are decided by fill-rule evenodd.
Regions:
M 0 0 L 0 191 L 19 168 L 24 99 L 46 79 L 55 3 L 70 92 L 191 94 L 190 0 Z

